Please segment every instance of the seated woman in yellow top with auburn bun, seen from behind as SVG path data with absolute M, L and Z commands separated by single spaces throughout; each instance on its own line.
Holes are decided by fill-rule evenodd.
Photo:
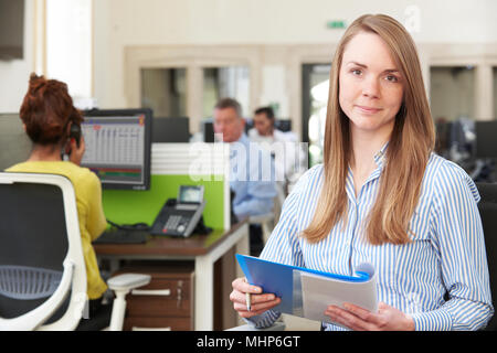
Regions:
M 33 148 L 25 162 L 7 171 L 62 174 L 73 183 L 92 318 L 101 309 L 103 295 L 107 290 L 92 240 L 104 232 L 107 222 L 102 205 L 101 182 L 87 168 L 80 167 L 85 152 L 85 141 L 81 135 L 83 116 L 74 107 L 66 84 L 31 74 L 20 117 Z M 68 161 L 63 160 L 63 154 L 68 154 Z

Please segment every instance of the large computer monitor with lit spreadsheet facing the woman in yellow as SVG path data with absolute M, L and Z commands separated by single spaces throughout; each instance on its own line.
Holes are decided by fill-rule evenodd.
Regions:
M 103 189 L 150 189 L 151 109 L 85 110 L 81 165 Z

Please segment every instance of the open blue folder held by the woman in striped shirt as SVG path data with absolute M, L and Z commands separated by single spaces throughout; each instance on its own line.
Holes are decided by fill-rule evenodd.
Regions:
M 369 274 L 363 271 L 356 271 L 357 276 L 343 276 L 305 267 L 272 263 L 253 256 L 241 254 L 236 254 L 235 256 L 248 284 L 261 287 L 265 293 L 274 293 L 276 297 L 282 298 L 282 302 L 274 310 L 284 313 L 292 314 L 294 313 L 295 306 L 302 306 L 302 303 L 294 302 L 295 298 L 300 298 L 300 293 L 294 297 L 294 270 L 351 282 L 362 282 L 370 279 Z

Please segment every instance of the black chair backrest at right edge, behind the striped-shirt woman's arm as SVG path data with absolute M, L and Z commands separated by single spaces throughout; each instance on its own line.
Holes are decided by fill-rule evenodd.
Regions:
M 476 183 L 482 200 L 478 203 L 479 214 L 485 234 L 490 290 L 494 308 L 497 298 L 497 183 Z M 497 330 L 497 318 L 494 315 L 487 330 Z

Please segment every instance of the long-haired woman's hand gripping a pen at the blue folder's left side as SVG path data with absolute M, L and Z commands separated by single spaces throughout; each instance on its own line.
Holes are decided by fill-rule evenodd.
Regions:
M 273 293 L 263 293 L 261 287 L 250 285 L 245 278 L 236 278 L 232 287 L 230 300 L 242 318 L 260 315 L 282 302 L 281 298 Z M 251 311 L 246 308 L 246 293 L 251 293 Z

